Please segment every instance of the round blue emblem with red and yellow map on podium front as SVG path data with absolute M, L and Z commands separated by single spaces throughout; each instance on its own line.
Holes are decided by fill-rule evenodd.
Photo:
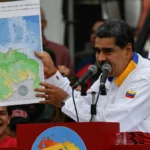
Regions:
M 54 126 L 40 133 L 31 150 L 86 150 L 86 146 L 71 128 Z

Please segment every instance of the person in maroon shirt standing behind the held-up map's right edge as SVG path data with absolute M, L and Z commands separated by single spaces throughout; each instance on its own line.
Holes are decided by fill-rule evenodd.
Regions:
M 61 68 L 61 66 L 62 67 L 65 66 L 66 68 L 69 69 L 69 74 L 73 74 L 74 68 L 73 68 L 69 50 L 63 45 L 60 45 L 55 42 L 47 40 L 44 35 L 44 31 L 45 31 L 46 27 L 47 27 L 47 20 L 46 20 L 44 11 L 41 8 L 41 29 L 42 29 L 43 49 L 51 49 L 55 53 L 56 67 L 59 66 L 59 68 Z M 61 71 L 62 71 L 62 69 L 60 70 L 60 72 Z M 64 71 L 63 71 L 63 73 L 64 73 Z

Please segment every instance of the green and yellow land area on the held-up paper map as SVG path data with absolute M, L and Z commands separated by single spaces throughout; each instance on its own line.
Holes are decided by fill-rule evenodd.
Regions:
M 12 84 L 29 78 L 34 80 L 33 88 L 39 87 L 39 64 L 26 54 L 11 50 L 0 52 L 0 99 L 8 99 L 15 92 Z

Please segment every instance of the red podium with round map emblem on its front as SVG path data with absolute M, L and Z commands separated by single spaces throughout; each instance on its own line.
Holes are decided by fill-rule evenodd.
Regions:
M 49 143 L 52 144 L 51 138 L 47 136 L 48 134 L 53 137 L 53 139 L 57 138 L 60 140 L 63 132 L 56 133 L 56 135 L 55 133 L 50 133 L 51 129 L 56 129 L 55 131 L 58 132 L 56 127 L 61 127 L 76 133 L 75 135 L 78 135 L 82 139 L 87 150 L 111 150 L 111 146 L 116 144 L 116 133 L 119 132 L 119 123 L 108 122 L 22 124 L 17 125 L 18 148 L 16 148 L 16 150 L 52 150 L 52 148 L 44 146 L 46 145 L 46 140 L 49 140 Z M 63 140 L 66 140 L 64 143 L 70 144 L 77 140 L 76 137 L 72 137 L 72 140 L 68 141 L 67 138 L 72 136 L 70 133 L 71 132 L 63 133 Z M 42 134 L 43 137 L 41 137 Z M 39 141 L 38 138 L 41 138 L 41 141 Z M 55 145 L 57 146 L 57 148 L 54 149 L 63 150 L 63 148 L 60 148 L 61 144 L 58 143 L 57 140 L 54 140 L 53 144 L 54 147 Z M 35 145 L 36 147 L 33 148 Z M 69 146 L 72 145 L 73 144 L 70 144 Z M 82 149 L 84 150 L 84 148 L 80 150 Z

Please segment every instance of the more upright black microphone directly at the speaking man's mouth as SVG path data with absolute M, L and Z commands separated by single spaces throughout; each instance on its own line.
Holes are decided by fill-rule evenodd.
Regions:
M 100 86 L 104 86 L 108 77 L 108 74 L 111 72 L 112 67 L 109 63 L 104 63 L 102 65 L 102 76 L 100 81 Z

